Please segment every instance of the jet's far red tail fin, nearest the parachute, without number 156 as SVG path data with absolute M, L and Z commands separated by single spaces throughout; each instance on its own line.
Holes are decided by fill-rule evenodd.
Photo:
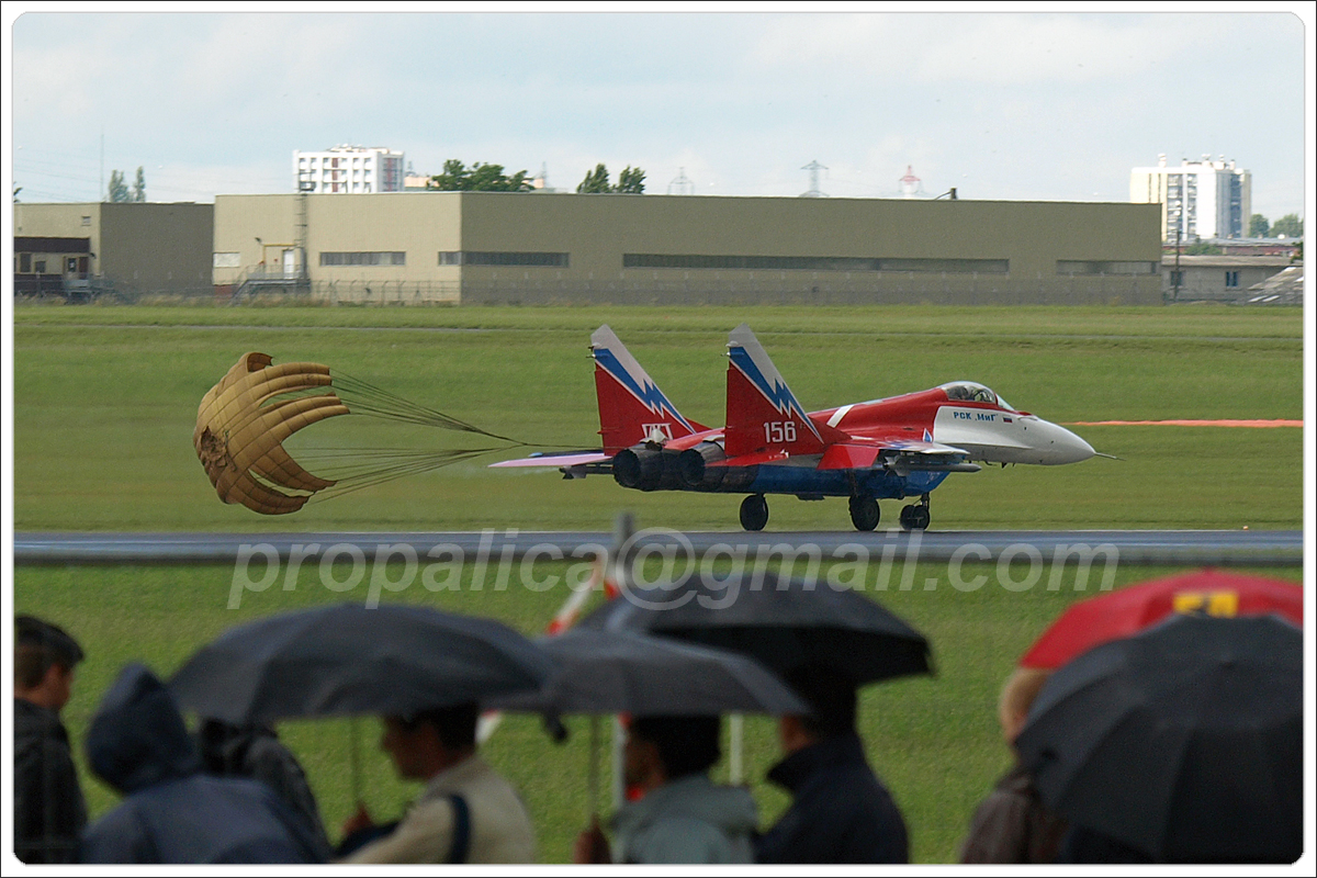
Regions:
M 590 336 L 590 355 L 606 454 L 647 440 L 665 442 L 706 429 L 681 416 L 607 324 Z

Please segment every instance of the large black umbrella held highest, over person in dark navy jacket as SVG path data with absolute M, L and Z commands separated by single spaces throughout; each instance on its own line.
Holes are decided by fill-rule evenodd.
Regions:
M 582 628 L 648 631 L 757 658 L 774 671 L 827 665 L 855 683 L 930 673 L 928 641 L 849 588 L 773 573 L 628 588 Z

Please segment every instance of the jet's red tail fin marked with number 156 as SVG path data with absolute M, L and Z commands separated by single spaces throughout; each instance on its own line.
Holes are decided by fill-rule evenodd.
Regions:
M 727 358 L 727 455 L 820 454 L 832 440 L 819 433 L 748 325 L 728 336 Z

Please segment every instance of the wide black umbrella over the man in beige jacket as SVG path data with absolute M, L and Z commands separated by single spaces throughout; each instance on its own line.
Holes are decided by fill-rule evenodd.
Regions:
M 170 681 L 225 723 L 407 715 L 539 688 L 552 659 L 511 628 L 428 607 L 319 607 L 230 628 Z

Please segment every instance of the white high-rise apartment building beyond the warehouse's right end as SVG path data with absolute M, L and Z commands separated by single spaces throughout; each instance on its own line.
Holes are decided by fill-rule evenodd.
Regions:
M 1166 154 L 1156 167 L 1130 171 L 1130 203 L 1162 205 L 1162 240 L 1241 238 L 1252 211 L 1252 175 L 1225 155 L 1213 162 L 1180 159 L 1167 167 Z

